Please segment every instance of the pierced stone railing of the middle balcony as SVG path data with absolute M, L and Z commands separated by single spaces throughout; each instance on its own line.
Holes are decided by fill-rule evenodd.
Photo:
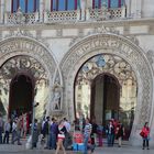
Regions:
M 62 22 L 62 21 L 77 21 L 79 20 L 79 10 L 76 11 L 53 11 L 44 13 L 44 22 Z

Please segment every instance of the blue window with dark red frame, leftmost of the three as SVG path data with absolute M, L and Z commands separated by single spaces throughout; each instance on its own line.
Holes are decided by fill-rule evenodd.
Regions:
M 36 12 L 38 11 L 40 0 L 12 0 L 12 9 L 11 12 L 16 12 L 19 7 L 22 12 Z

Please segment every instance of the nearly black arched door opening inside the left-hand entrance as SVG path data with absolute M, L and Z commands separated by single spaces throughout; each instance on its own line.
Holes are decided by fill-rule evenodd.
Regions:
M 32 112 L 34 81 L 24 74 L 16 75 L 10 84 L 9 118 Z

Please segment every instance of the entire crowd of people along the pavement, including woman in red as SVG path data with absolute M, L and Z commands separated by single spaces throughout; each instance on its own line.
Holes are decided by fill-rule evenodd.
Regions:
M 123 124 L 114 119 L 109 120 L 106 127 L 97 123 L 96 119 L 89 120 L 88 118 L 76 119 L 72 125 L 66 118 L 57 121 L 56 118 L 46 117 L 41 123 L 35 119 L 34 123 L 31 124 L 28 113 L 14 117 L 13 120 L 8 119 L 6 122 L 0 114 L 0 144 L 14 144 L 16 142 L 18 145 L 22 145 L 21 138 L 26 139 L 29 134 L 32 136 L 32 147 L 37 147 L 40 141 L 43 148 L 55 150 L 55 154 L 63 150 L 66 154 L 66 150 L 73 147 L 75 132 L 82 134 L 84 154 L 87 154 L 88 151 L 92 153 L 96 146 L 102 146 L 102 138 L 107 138 L 108 146 L 113 146 L 117 139 L 118 146 L 121 147 L 122 139 L 125 135 Z M 12 133 L 11 140 L 9 140 L 10 133 Z M 150 128 L 147 122 L 140 135 L 143 139 L 143 150 L 145 147 L 148 150 Z

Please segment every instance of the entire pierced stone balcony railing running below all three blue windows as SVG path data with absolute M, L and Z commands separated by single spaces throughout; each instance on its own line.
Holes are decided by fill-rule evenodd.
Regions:
M 86 13 L 85 13 L 86 12 Z M 53 11 L 44 13 L 22 13 L 20 10 L 16 13 L 6 13 L 6 24 L 34 24 L 34 23 L 55 23 L 55 22 L 76 22 L 82 20 L 111 20 L 124 19 L 125 8 L 108 9 L 87 9 L 86 11 Z

